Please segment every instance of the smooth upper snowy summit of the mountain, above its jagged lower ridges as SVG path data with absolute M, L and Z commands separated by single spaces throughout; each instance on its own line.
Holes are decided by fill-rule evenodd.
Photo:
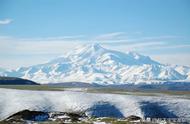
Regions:
M 86 62 L 84 64 L 92 64 L 105 61 L 125 65 L 159 64 L 158 62 L 151 60 L 148 56 L 143 56 L 135 52 L 122 53 L 119 51 L 108 50 L 99 44 L 90 44 L 79 47 L 74 52 L 69 54 L 68 58 L 71 60 L 81 60 L 83 62 Z

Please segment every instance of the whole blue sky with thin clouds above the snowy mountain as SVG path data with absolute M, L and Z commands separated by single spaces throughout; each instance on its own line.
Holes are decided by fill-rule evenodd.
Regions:
M 190 1 L 0 0 L 0 67 L 41 63 L 94 42 L 190 65 Z

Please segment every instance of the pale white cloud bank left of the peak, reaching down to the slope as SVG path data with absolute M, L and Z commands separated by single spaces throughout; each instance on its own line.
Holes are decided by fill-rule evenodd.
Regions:
M 83 44 L 83 41 L 63 39 L 0 37 L 0 67 L 17 68 L 44 63 Z

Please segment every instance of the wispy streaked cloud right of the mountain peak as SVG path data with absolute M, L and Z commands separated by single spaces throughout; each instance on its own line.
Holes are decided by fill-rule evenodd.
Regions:
M 122 34 L 121 34 L 122 35 Z M 151 51 L 163 49 L 183 49 L 190 48 L 190 44 L 181 43 L 181 40 L 189 40 L 182 36 L 163 35 L 151 37 L 128 38 L 120 37 L 120 39 L 104 40 L 100 43 L 113 49 L 122 51 Z M 179 43 L 180 41 L 180 43 Z M 175 42 L 178 42 L 175 43 Z

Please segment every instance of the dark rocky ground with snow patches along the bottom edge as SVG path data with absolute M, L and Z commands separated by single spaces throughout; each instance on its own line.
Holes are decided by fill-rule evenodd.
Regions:
M 127 124 L 127 123 L 146 123 L 138 116 L 129 116 L 126 118 L 111 118 L 111 117 L 87 117 L 83 113 L 67 113 L 67 112 L 42 112 L 23 110 L 17 112 L 5 120 L 0 121 L 0 124 Z

